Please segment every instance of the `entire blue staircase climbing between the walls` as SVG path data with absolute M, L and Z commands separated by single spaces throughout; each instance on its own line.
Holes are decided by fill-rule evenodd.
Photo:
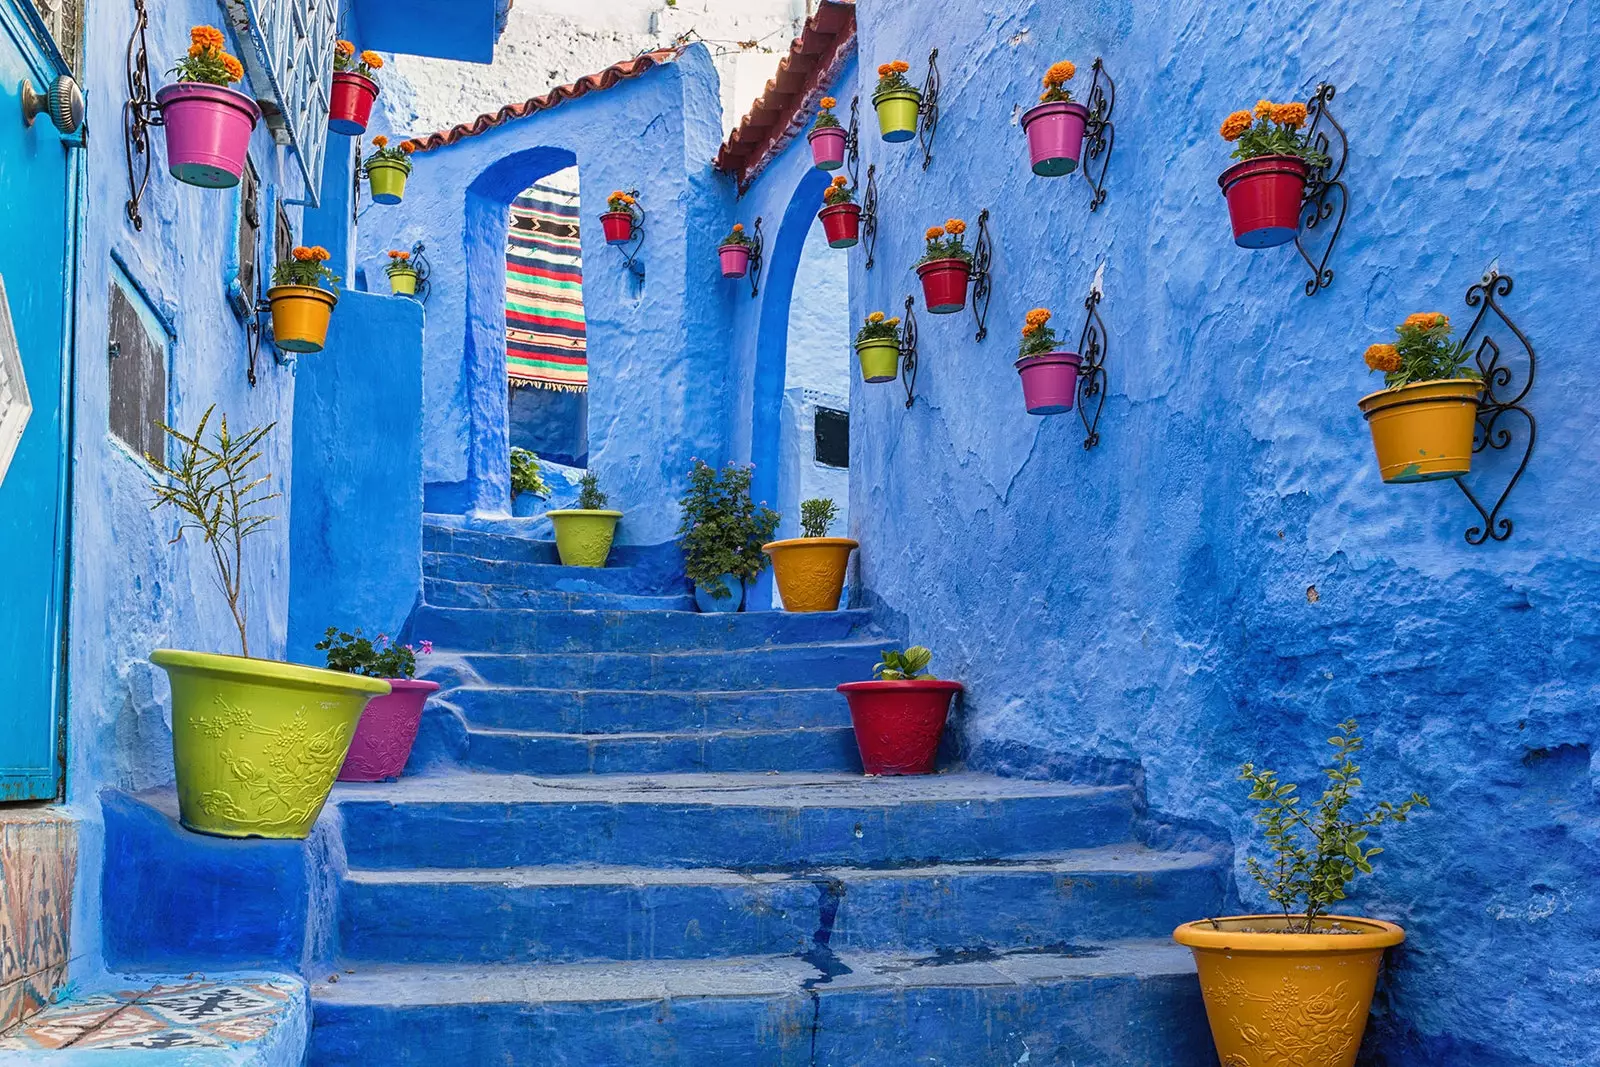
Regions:
M 312 1064 L 1214 1065 L 1173 926 L 1227 856 L 1125 782 L 867 779 L 864 613 L 701 616 L 627 550 L 427 526 L 448 771 L 334 792 Z

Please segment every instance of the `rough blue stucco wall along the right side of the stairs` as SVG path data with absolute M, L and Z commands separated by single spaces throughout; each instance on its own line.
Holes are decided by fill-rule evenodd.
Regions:
M 1160 817 L 1240 843 L 1238 763 L 1314 782 L 1330 726 L 1360 718 L 1368 795 L 1418 789 L 1435 806 L 1386 833 L 1378 877 L 1349 902 L 1410 931 L 1368 1064 L 1600 1061 L 1597 518 L 1592 464 L 1573 462 L 1594 453 L 1595 398 L 1574 269 L 1597 221 L 1586 11 L 859 10 L 864 69 L 904 58 L 920 80 L 938 46 L 944 93 L 926 173 L 915 144 L 862 138 L 883 237 L 875 270 L 853 259 L 853 320 L 912 291 L 925 226 L 987 206 L 995 237 L 989 339 L 973 341 L 970 315 L 923 314 L 915 408 L 898 386 L 853 384 L 864 597 L 966 683 L 971 763 L 1133 761 Z M 1091 214 L 1082 181 L 1029 174 L 1016 115 L 1046 66 L 1077 61 L 1086 88 L 1096 54 L 1118 101 L 1110 198 Z M 1232 245 L 1216 126 L 1322 78 L 1350 130 L 1352 210 L 1338 278 L 1307 299 L 1293 248 Z M 803 155 L 746 202 L 778 214 Z M 1496 259 L 1539 354 L 1539 443 L 1507 506 L 1514 537 L 1472 547 L 1453 485 L 1381 485 L 1355 402 L 1374 389 L 1366 344 L 1413 310 L 1467 322 L 1462 294 Z M 1102 262 L 1110 400 L 1085 453 L 1075 416 L 1024 414 L 1013 338 L 1035 306 L 1075 336 Z M 760 360 L 736 374 L 749 397 Z M 734 429 L 742 454 L 749 434 Z M 1483 464 L 1478 485 L 1498 493 L 1506 474 Z

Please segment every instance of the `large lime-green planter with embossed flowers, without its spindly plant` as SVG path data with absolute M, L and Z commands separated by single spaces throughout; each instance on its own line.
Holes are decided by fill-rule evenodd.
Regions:
M 328 800 L 382 678 L 160 648 L 173 683 L 178 813 L 218 837 L 299 840 Z

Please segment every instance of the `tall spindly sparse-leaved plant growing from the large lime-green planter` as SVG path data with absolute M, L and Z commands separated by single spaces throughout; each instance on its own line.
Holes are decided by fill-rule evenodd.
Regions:
M 211 550 L 218 585 L 227 597 L 227 609 L 234 616 L 234 625 L 238 627 L 240 654 L 250 656 L 250 633 L 245 625 L 245 539 L 275 518 L 261 514 L 259 509 L 278 496 L 261 491 L 272 480 L 272 474 L 253 477 L 251 467 L 261 459 L 261 443 L 277 422 L 235 437 L 227 429 L 224 414 L 213 435 L 214 443 L 208 445 L 205 430 L 213 411 L 216 405 L 205 410 L 194 434 L 157 422 L 178 442 L 179 451 L 173 466 L 146 454 L 155 472 L 168 480 L 166 485 L 157 483 L 155 504 L 150 510 L 173 507 L 182 514 L 184 522 L 178 526 L 178 536 L 168 544 L 178 544 L 184 531 L 194 530 L 200 534 L 202 544 Z

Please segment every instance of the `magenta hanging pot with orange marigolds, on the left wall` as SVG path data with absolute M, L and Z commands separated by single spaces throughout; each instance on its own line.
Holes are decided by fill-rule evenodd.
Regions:
M 261 109 L 229 85 L 245 77 L 238 59 L 222 51 L 222 30 L 195 26 L 189 54 L 171 74 L 178 82 L 155 94 L 166 128 L 166 171 L 202 189 L 232 189 L 245 173 L 250 134 Z

